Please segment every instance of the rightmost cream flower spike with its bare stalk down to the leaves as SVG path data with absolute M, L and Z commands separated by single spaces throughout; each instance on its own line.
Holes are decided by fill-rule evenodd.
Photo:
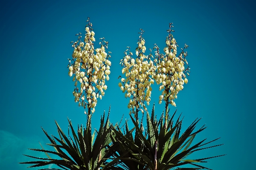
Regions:
M 155 59 L 154 62 L 157 65 L 157 71 L 154 75 L 154 79 L 157 84 L 160 85 L 159 90 L 163 90 L 162 94 L 159 96 L 159 104 L 162 100 L 166 102 L 165 106 L 165 128 L 167 127 L 168 119 L 168 106 L 169 104 L 176 106 L 174 99 L 177 99 L 177 94 L 179 91 L 183 90 L 183 84 L 188 82 L 186 79 L 186 73 L 189 75 L 189 66 L 185 69 L 187 52 L 184 51 L 188 47 L 185 44 L 184 48 L 181 48 L 181 52 L 177 55 L 177 42 L 172 35 L 172 23 L 169 23 L 169 33 L 166 37 L 166 47 L 163 49 L 164 54 L 160 54 L 159 48 L 154 44 Z

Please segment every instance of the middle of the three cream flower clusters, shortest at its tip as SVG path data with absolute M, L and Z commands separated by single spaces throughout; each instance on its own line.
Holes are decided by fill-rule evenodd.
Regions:
M 132 58 L 132 52 L 130 47 L 124 52 L 125 57 L 120 60 L 122 64 L 121 82 L 119 87 L 121 91 L 125 92 L 125 97 L 129 97 L 128 108 L 132 108 L 133 113 L 137 113 L 139 110 L 147 111 L 144 102 L 149 105 L 151 97 L 151 84 L 154 83 L 153 75 L 155 73 L 155 65 L 151 60 L 152 54 L 146 56 L 145 40 L 142 37 L 143 30 L 141 29 L 140 39 L 138 40 L 136 48 L 136 58 Z M 151 50 L 150 50 L 151 51 Z M 142 109 L 143 108 L 143 109 Z M 135 112 L 136 109 L 136 112 Z

